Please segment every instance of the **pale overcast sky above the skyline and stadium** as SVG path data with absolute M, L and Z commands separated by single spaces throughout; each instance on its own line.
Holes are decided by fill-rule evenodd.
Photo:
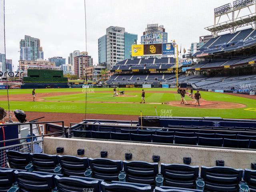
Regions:
M 168 40 L 186 50 L 204 27 L 214 22 L 214 8 L 232 0 L 86 0 L 87 50 L 98 63 L 98 38 L 109 26 L 124 27 L 140 36 L 147 24 L 164 25 Z M 74 50 L 85 51 L 84 0 L 6 0 L 6 58 L 15 69 L 19 42 L 29 35 L 40 38 L 44 58 L 68 58 Z

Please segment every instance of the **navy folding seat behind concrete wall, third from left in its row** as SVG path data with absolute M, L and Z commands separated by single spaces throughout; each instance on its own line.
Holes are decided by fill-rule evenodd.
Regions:
M 58 160 L 62 173 L 66 176 L 84 176 L 84 172 L 89 166 L 87 157 L 59 155 Z

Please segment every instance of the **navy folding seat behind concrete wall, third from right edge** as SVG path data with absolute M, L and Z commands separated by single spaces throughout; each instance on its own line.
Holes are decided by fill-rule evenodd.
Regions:
M 199 167 L 183 164 L 161 163 L 161 174 L 164 176 L 164 186 L 191 188 L 196 187 Z

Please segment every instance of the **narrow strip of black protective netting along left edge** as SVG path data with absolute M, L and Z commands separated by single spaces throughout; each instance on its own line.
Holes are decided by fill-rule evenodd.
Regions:
M 4 77 L 6 72 L 6 54 L 5 54 L 5 13 L 4 0 L 0 0 L 0 107 L 8 110 L 7 97 L 7 77 Z

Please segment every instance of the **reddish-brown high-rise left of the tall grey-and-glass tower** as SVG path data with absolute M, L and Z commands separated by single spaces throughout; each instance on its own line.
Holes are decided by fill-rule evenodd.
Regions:
M 92 65 L 92 56 L 89 56 L 88 52 L 81 52 L 80 55 L 74 57 L 74 74 L 78 77 L 85 76 L 86 68 Z

